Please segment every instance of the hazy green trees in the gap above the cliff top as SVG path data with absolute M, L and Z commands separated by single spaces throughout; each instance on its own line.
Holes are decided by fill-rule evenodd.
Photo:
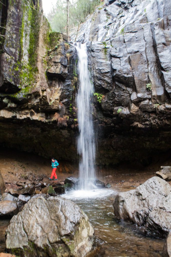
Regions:
M 57 0 L 56 5 L 47 15 L 52 31 L 66 33 L 67 1 Z M 102 0 L 78 0 L 69 2 L 69 29 L 82 23 L 88 14 L 94 12 Z

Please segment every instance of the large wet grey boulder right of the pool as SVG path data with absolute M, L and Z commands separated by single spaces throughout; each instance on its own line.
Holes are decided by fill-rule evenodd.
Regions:
M 147 233 L 167 236 L 171 229 L 171 187 L 152 177 L 134 190 L 119 193 L 113 203 L 117 218 L 127 219 Z

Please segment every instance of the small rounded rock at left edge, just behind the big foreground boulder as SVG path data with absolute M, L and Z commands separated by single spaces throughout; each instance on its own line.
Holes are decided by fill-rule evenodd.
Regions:
M 19 212 L 18 206 L 14 201 L 0 202 L 0 217 L 12 217 Z

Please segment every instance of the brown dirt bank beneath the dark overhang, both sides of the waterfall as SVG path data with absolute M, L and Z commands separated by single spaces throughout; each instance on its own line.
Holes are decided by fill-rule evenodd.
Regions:
M 57 158 L 56 158 L 57 159 Z M 58 159 L 57 159 L 58 160 Z M 68 176 L 78 176 L 77 164 L 59 161 L 57 169 L 58 181 L 63 182 Z M 110 183 L 112 188 L 125 190 L 136 187 L 150 177 L 155 176 L 155 172 L 160 166 L 170 166 L 170 153 L 156 156 L 149 166 L 137 166 L 123 163 L 117 167 L 98 168 L 97 177 L 105 183 Z M 16 187 L 17 182 L 31 183 L 32 176 L 43 175 L 44 182 L 50 182 L 48 177 L 51 175 L 51 160 L 45 159 L 35 154 L 19 152 L 9 149 L 0 150 L 0 170 L 6 187 Z

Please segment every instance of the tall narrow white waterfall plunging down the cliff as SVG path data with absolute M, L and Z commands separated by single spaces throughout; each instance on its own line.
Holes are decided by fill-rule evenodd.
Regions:
M 94 187 L 96 142 L 93 126 L 92 95 L 93 84 L 90 82 L 86 43 L 75 45 L 78 53 L 79 89 L 77 95 L 79 136 L 77 151 L 80 155 L 79 178 L 80 189 L 88 190 Z

